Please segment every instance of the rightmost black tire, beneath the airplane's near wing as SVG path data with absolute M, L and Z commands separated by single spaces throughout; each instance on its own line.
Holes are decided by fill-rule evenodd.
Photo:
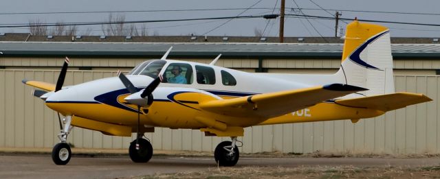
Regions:
M 240 158 L 240 152 L 239 152 L 239 148 L 235 147 L 234 148 L 234 154 L 232 154 L 232 156 L 230 156 L 230 152 L 228 152 L 227 150 L 225 150 L 225 146 L 230 146 L 232 147 L 232 142 L 231 141 L 223 141 L 221 143 L 219 143 L 219 145 L 217 145 L 217 147 L 215 147 L 215 151 L 214 151 L 214 159 L 215 162 L 222 167 L 232 167 L 234 165 L 236 165 L 236 163 L 239 161 Z M 229 149 L 230 149 L 229 147 Z

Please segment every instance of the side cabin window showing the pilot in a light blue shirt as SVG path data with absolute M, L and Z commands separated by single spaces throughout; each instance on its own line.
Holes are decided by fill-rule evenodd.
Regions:
M 186 63 L 171 63 L 164 73 L 164 83 L 192 84 L 192 67 Z

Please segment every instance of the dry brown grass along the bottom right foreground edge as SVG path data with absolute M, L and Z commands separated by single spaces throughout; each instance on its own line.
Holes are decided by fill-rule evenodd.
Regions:
M 440 167 L 220 167 L 134 178 L 440 178 Z

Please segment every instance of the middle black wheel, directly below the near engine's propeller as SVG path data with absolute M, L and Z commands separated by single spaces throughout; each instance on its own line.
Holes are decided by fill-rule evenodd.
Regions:
M 146 163 L 153 156 L 153 146 L 146 139 L 139 139 L 139 150 L 136 150 L 136 140 L 130 143 L 130 158 L 135 163 Z

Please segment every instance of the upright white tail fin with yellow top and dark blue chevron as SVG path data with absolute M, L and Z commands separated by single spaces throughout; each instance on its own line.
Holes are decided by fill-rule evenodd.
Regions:
M 393 56 L 388 28 L 358 21 L 349 23 L 342 63 L 336 75 L 342 82 L 368 88 L 369 91 L 362 92 L 362 95 L 394 93 Z

